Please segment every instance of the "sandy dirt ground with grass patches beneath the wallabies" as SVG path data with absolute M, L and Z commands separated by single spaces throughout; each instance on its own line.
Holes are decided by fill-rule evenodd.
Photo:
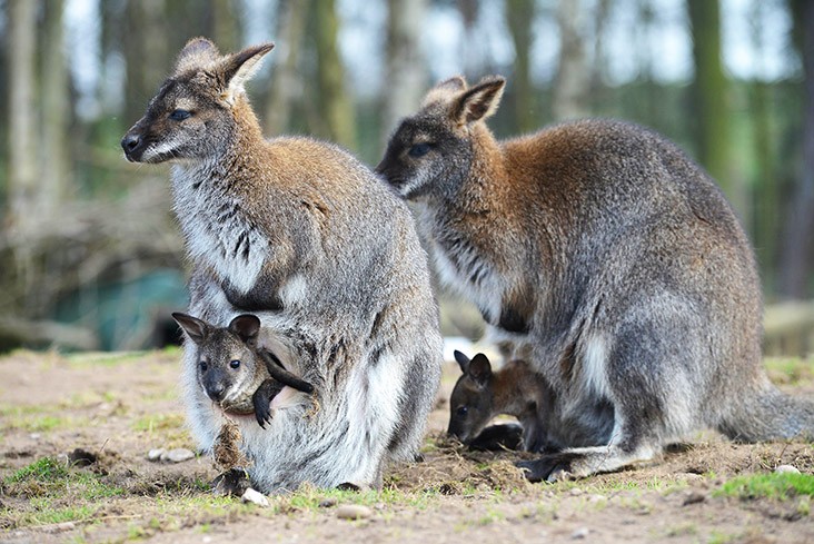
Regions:
M 471 453 L 443 436 L 454 364 L 425 461 L 391 467 L 380 493 L 306 488 L 270 497 L 269 507 L 216 497 L 209 458 L 147 458 L 158 447 L 193 448 L 177 397 L 178 362 L 177 350 L 0 358 L 0 541 L 814 542 L 811 444 L 739 445 L 701 434 L 626 471 L 528 484 L 514 468 L 518 454 Z M 813 365 L 777 362 L 772 377 L 814 398 Z M 800 469 L 810 491 L 726 491 L 733 478 L 780 465 Z M 368 517 L 340 518 L 348 504 Z

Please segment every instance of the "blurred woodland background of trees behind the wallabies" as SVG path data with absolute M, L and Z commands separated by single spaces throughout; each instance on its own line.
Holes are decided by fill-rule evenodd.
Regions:
M 500 137 L 587 116 L 655 128 L 712 172 L 754 241 L 772 349 L 814 347 L 812 1 L 0 0 L 0 350 L 176 339 L 168 169 L 127 164 L 119 139 L 195 36 L 221 51 L 275 41 L 250 83 L 267 133 L 371 165 L 458 73 L 508 78 Z M 444 316 L 447 334 L 477 335 L 466 306 L 445 299 Z

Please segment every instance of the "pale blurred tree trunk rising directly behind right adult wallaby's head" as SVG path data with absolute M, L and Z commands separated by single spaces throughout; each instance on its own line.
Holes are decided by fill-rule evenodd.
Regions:
M 381 141 L 400 118 L 414 111 L 426 90 L 420 33 L 427 0 L 388 0 L 387 86 L 380 126 Z

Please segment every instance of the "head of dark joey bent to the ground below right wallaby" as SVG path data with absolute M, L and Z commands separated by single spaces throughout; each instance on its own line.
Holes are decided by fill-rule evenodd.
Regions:
M 455 352 L 464 373 L 453 388 L 449 397 L 449 427 L 447 434 L 469 444 L 495 417 L 495 392 L 492 387 L 494 374 L 492 364 L 484 354 L 471 359 L 460 352 Z

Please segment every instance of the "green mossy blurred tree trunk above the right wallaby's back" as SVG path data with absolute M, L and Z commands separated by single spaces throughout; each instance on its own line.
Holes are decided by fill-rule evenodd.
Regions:
M 741 219 L 748 224 L 745 188 L 735 182 L 731 171 L 729 86 L 721 57 L 719 0 L 687 0 L 687 8 L 695 61 L 693 117 L 698 160 L 718 182 Z

